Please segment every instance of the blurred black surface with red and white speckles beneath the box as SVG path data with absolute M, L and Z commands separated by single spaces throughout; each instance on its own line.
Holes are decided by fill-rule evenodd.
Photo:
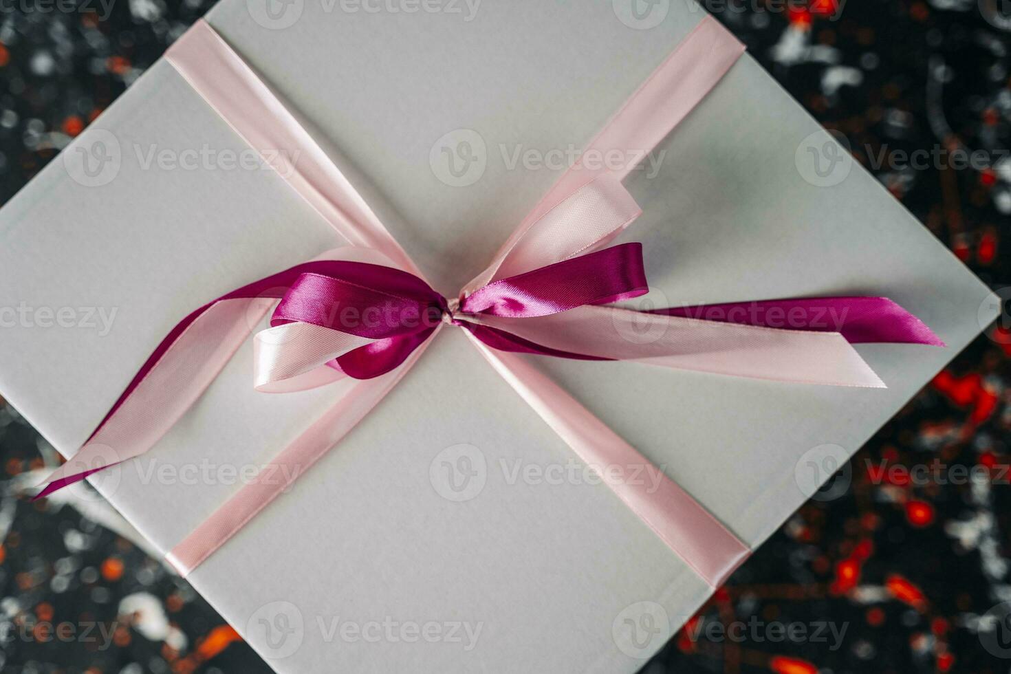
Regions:
M 210 4 L 0 2 L 0 200 Z M 712 0 L 710 9 L 1011 299 L 1011 0 Z M 957 153 L 971 166 L 950 161 Z M 1005 318 L 1007 311 L 643 672 L 1011 671 L 1011 621 L 988 613 L 1011 600 Z M 31 471 L 55 461 L 0 400 L 0 670 L 270 671 L 100 499 L 31 503 L 19 495 Z M 61 635 L 55 625 L 63 621 L 76 633 Z M 791 625 L 806 636 L 791 637 Z

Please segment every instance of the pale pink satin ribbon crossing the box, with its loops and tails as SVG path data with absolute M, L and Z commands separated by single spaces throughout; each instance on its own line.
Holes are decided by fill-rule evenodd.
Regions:
M 645 155 L 698 105 L 742 53 L 742 45 L 707 16 L 587 151 L 637 148 Z M 459 304 L 456 300 L 444 302 L 441 296 L 435 300 L 437 304 L 444 302 L 440 310 L 445 320 L 396 333 L 328 322 L 327 316 L 313 313 L 311 300 L 347 296 L 342 294 L 347 288 L 340 284 L 350 279 L 342 277 L 340 270 L 349 268 L 340 264 L 360 263 L 388 270 L 391 276 L 386 281 L 358 289 L 373 293 L 377 304 L 409 308 L 410 302 L 418 300 L 416 291 L 421 292 L 421 286 L 412 285 L 409 279 L 426 287 L 427 282 L 350 182 L 209 25 L 203 21 L 194 25 L 167 58 L 251 147 L 261 153 L 271 148 L 299 151 L 297 166 L 282 176 L 348 244 L 324 254 L 314 266 L 300 268 L 294 277 L 282 273 L 258 281 L 191 314 L 156 350 L 85 447 L 47 481 L 50 486 L 43 493 L 147 452 L 199 398 L 249 336 L 252 326 L 282 298 L 272 327 L 255 338 L 257 388 L 285 392 L 344 379 L 346 393 L 275 458 L 271 470 L 262 473 L 270 475 L 270 480 L 242 487 L 168 554 L 169 561 L 184 575 L 288 487 L 279 483 L 278 475 L 294 479 L 340 442 L 396 385 L 447 324 L 465 327 L 491 366 L 582 461 L 592 466 L 631 471 L 645 465 L 646 459 L 554 382 L 509 352 L 554 351 L 777 381 L 884 386 L 846 336 L 836 331 L 777 329 L 761 324 L 761 320 L 748 324 L 725 316 L 700 318 L 691 312 L 678 313 L 678 309 L 663 315 L 600 306 L 593 302 L 615 301 L 631 294 L 612 292 L 612 286 L 594 285 L 585 276 L 580 277 L 585 287 L 580 286 L 582 294 L 576 303 L 571 288 L 558 286 L 554 294 L 538 290 L 548 284 L 546 279 L 553 278 L 552 266 L 566 263 L 567 273 L 576 274 L 587 264 L 589 254 L 603 249 L 640 213 L 621 184 L 627 172 L 589 171 L 581 166 L 568 171 L 525 218 L 491 265 L 463 290 Z M 629 249 L 609 251 L 596 255 L 607 254 L 619 265 L 624 264 L 621 256 L 629 253 Z M 366 277 L 374 271 L 355 269 L 364 270 Z M 634 274 L 626 274 L 621 277 L 624 285 L 619 285 L 635 288 L 636 282 Z M 524 308 L 518 308 L 521 306 Z M 889 304 L 877 306 L 886 313 L 892 310 Z M 908 323 L 906 332 L 925 328 L 901 308 L 895 310 L 893 318 Z M 309 319 L 303 319 L 306 316 Z M 936 341 L 929 329 L 926 332 Z M 646 341 L 629 339 L 643 333 L 651 336 Z M 404 342 L 391 349 L 384 340 Z M 929 343 L 927 338 L 916 335 L 908 341 Z M 370 356 L 391 359 L 388 372 L 383 370 L 378 376 L 369 373 L 371 378 L 348 382 L 348 375 L 361 374 L 356 368 L 370 363 Z M 669 479 L 652 493 L 633 484 L 607 483 L 713 587 L 750 552 Z

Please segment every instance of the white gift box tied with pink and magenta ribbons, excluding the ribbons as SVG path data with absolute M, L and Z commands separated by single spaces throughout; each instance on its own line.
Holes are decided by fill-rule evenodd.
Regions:
M 451 295 L 705 17 L 631 5 L 224 0 L 207 21 Z M 441 152 L 461 139 L 462 171 Z M 619 240 L 644 244 L 650 297 L 884 295 L 946 349 L 859 345 L 887 389 L 526 357 L 752 549 L 993 312 L 868 174 L 819 156 L 827 140 L 743 57 L 626 181 L 644 215 Z M 82 173 L 71 154 L 96 148 L 110 161 Z M 190 310 L 339 244 L 250 152 L 163 60 L 0 211 L 0 306 L 21 316 L 0 329 L 0 391 L 65 456 Z M 91 478 L 160 550 L 335 398 L 258 393 L 252 358 Z M 461 456 L 469 482 L 442 472 Z M 712 592 L 459 330 L 189 578 L 299 674 L 632 672 Z

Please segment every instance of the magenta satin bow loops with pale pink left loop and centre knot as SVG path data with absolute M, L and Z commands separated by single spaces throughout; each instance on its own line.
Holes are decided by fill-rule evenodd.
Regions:
M 256 338 L 255 380 L 261 391 L 327 383 L 331 377 L 316 372 L 321 366 L 354 379 L 379 377 L 399 367 L 444 323 L 464 327 L 501 351 L 607 360 L 538 345 L 481 320 L 547 316 L 648 292 L 640 244 L 494 281 L 457 300 L 447 300 L 410 273 L 369 263 L 317 261 L 282 276 L 292 275 L 272 327 Z

